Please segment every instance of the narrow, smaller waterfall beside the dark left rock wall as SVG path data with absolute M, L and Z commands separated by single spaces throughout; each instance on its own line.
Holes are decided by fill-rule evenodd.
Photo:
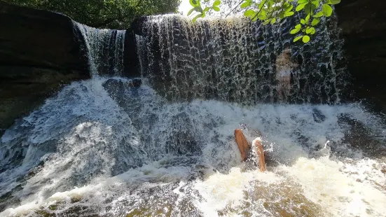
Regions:
M 96 29 L 74 22 L 81 31 L 92 76 L 123 75 L 125 30 Z

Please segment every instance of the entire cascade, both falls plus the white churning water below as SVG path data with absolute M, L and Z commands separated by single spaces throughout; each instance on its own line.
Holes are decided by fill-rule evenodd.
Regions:
M 4 132 L 0 216 L 385 216 L 385 116 L 338 103 L 336 22 L 308 44 L 291 22 L 150 17 L 140 82 L 122 77 L 125 31 L 75 23 L 92 78 Z M 287 47 L 298 66 L 280 98 Z M 261 132 L 266 172 L 253 151 L 242 162 L 237 128 Z

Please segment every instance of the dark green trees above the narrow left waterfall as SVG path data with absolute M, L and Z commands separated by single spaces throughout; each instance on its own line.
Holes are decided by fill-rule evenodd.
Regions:
M 62 13 L 90 27 L 127 29 L 144 15 L 175 13 L 181 0 L 6 0 Z

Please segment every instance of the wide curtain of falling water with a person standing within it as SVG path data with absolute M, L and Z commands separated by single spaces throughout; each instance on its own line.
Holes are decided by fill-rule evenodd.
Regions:
M 232 17 L 193 24 L 179 15 L 150 17 L 137 41 L 142 74 L 174 101 L 276 102 L 280 84 L 275 60 L 288 47 L 298 66 L 291 71 L 291 92 L 282 101 L 340 102 L 348 75 L 341 64 L 339 29 L 322 20 L 310 43 L 292 43 L 293 22 L 263 26 Z

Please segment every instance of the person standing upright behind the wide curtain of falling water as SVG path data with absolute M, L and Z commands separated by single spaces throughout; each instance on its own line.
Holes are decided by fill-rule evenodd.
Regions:
M 279 102 L 287 101 L 291 91 L 291 72 L 298 64 L 291 61 L 291 49 L 285 48 L 276 57 L 277 98 Z

